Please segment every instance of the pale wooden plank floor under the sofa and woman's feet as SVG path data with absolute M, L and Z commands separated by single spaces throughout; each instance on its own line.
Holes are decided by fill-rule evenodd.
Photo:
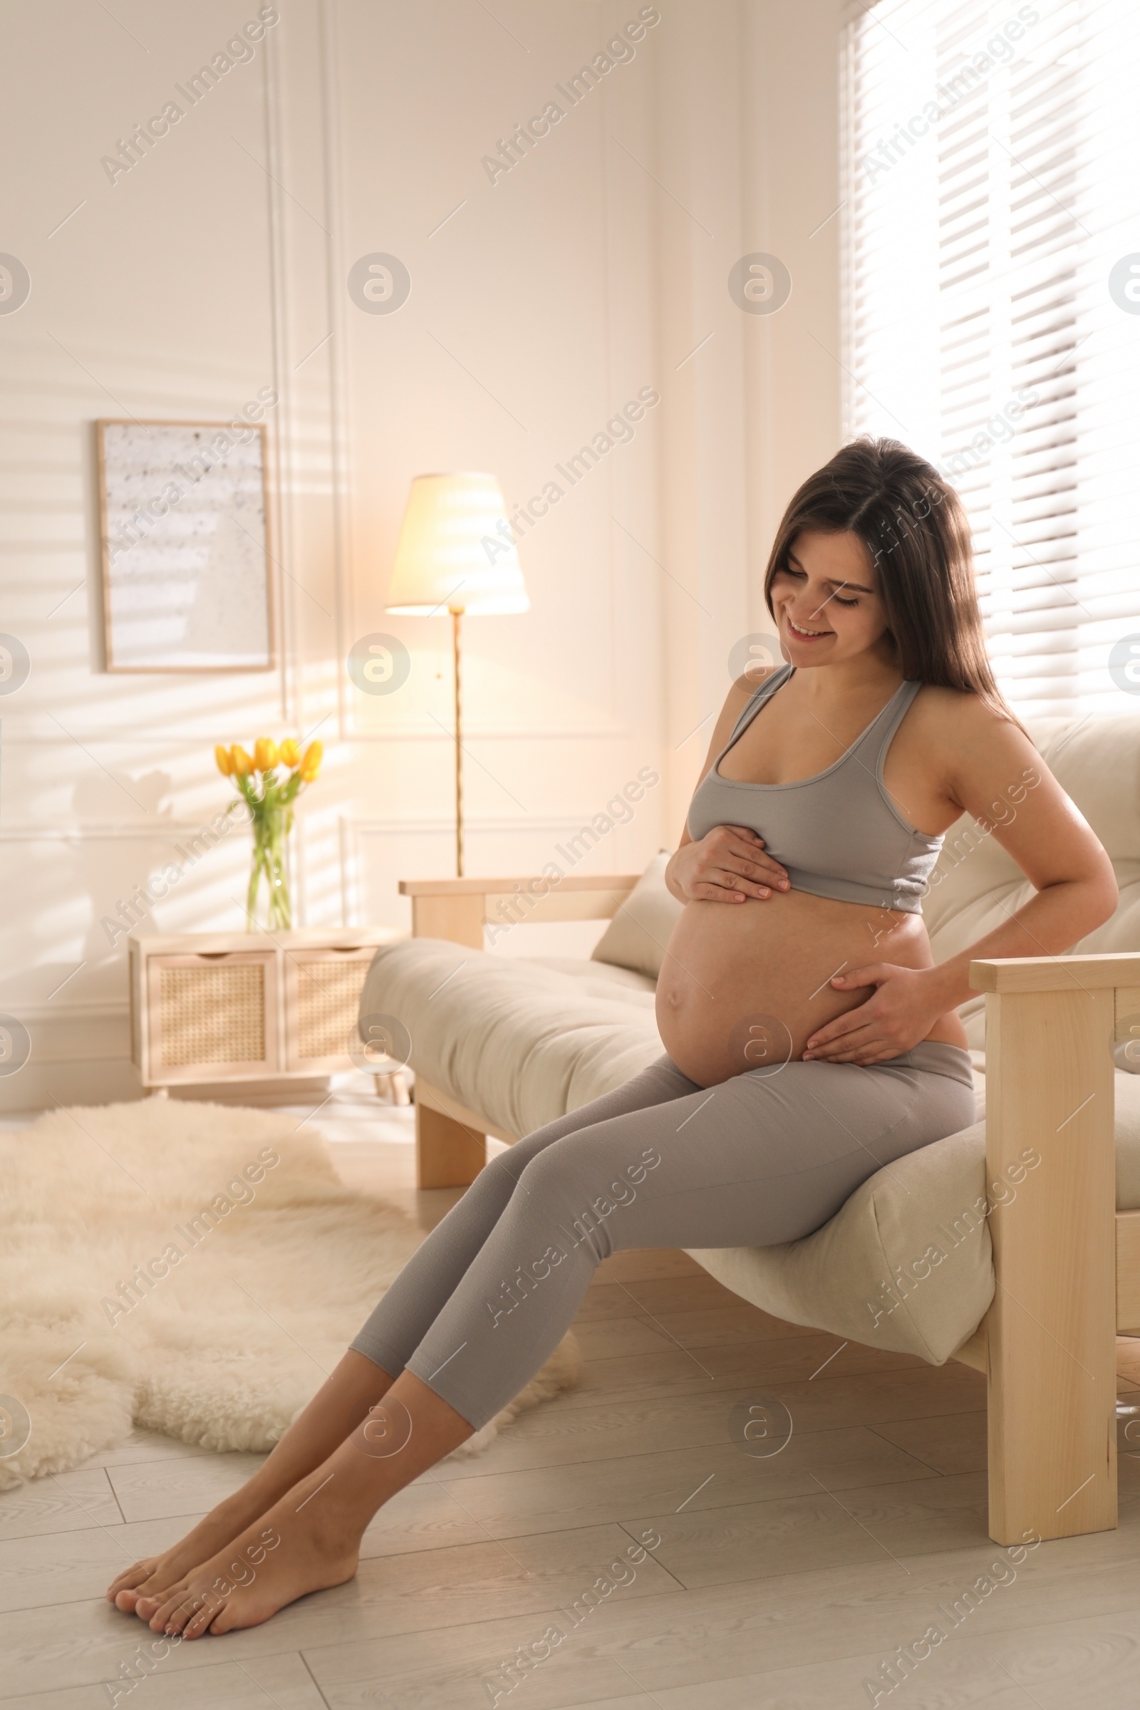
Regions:
M 347 1180 L 427 1228 L 455 1195 L 415 1194 L 410 1117 L 376 1120 L 378 1108 L 333 1105 L 321 1127 Z M 485 1710 L 492 1679 L 509 1710 L 843 1710 L 868 1705 L 863 1681 L 1002 1560 L 984 1529 L 984 1387 L 967 1368 L 836 1353 L 836 1337 L 755 1312 L 675 1252 L 608 1260 L 576 1332 L 583 1387 L 402 1493 L 369 1529 L 354 1583 L 183 1645 L 118 1703 Z M 1121 1392 L 1140 1399 L 1140 1342 L 1119 1346 Z M 784 1402 L 793 1435 L 752 1459 L 730 1414 L 762 1395 Z M 0 1701 L 106 1710 L 103 1683 L 144 1636 L 103 1601 L 108 1578 L 255 1465 L 140 1433 L 0 1496 Z M 574 1628 L 569 1607 L 649 1527 L 660 1548 Z M 501 1664 L 550 1623 L 567 1636 L 508 1693 Z M 1131 1455 L 1119 1530 L 1043 1544 L 880 1698 L 1138 1701 Z

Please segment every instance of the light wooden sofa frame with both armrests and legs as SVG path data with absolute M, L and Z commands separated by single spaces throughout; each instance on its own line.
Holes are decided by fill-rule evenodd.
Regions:
M 525 896 L 528 922 L 603 920 L 638 874 L 561 881 L 405 881 L 412 935 L 484 947 L 484 923 Z M 538 881 L 545 884 L 545 881 Z M 1032 1187 L 990 1214 L 996 1293 L 954 1354 L 986 1375 L 990 1536 L 1073 1537 L 1116 1525 L 1116 1334 L 1140 1336 L 1140 1211 L 1116 1211 L 1111 1041 L 1140 1014 L 1140 954 L 971 964 L 986 994 L 986 1180 L 1025 1147 Z M 485 1135 L 516 1135 L 415 1081 L 420 1187 L 473 1182 Z

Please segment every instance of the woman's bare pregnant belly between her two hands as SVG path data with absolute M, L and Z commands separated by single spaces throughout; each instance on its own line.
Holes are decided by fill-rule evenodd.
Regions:
M 921 915 L 807 891 L 687 903 L 656 987 L 661 1043 L 697 1086 L 798 1058 L 817 1028 L 872 995 L 839 992 L 831 976 L 868 963 L 933 966 Z M 966 1043 L 954 1012 L 928 1038 Z

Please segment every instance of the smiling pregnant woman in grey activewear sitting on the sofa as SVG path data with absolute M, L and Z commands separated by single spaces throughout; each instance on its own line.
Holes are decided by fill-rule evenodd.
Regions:
M 523 1389 L 608 1253 L 793 1241 L 969 1127 L 969 963 L 1056 954 L 1113 913 L 1108 855 L 995 687 L 966 518 L 928 463 L 839 451 L 764 593 L 784 663 L 728 693 L 668 864 L 668 1055 L 494 1158 L 256 1476 L 111 1585 L 156 1631 L 251 1626 L 350 1578 L 379 1505 Z M 935 966 L 921 896 L 964 811 L 1036 894 Z

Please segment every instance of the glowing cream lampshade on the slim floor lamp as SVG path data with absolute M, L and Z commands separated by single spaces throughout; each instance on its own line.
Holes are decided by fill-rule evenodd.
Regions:
M 494 475 L 415 475 L 403 511 L 388 610 L 473 617 L 530 609 Z

